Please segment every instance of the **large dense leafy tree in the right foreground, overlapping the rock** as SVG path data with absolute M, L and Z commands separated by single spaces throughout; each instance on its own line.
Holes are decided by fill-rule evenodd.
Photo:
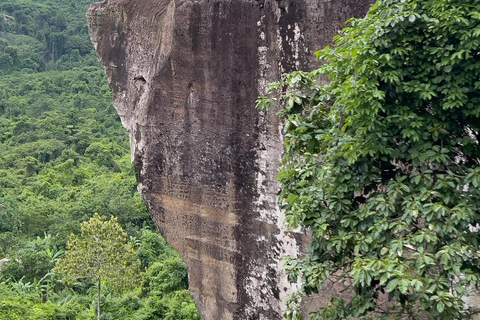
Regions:
M 379 0 L 317 53 L 324 65 L 285 75 L 274 100 L 259 100 L 284 106 L 281 203 L 292 227 L 313 234 L 305 257 L 286 260 L 303 283 L 287 318 L 327 279 L 345 296 L 312 319 L 470 317 L 479 34 L 478 1 Z

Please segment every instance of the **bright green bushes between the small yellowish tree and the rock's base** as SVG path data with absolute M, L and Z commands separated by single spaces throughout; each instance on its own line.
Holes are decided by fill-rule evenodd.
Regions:
M 200 320 L 188 291 L 186 265 L 158 233 L 143 230 L 137 257 L 146 267 L 141 288 L 108 294 L 102 319 Z

